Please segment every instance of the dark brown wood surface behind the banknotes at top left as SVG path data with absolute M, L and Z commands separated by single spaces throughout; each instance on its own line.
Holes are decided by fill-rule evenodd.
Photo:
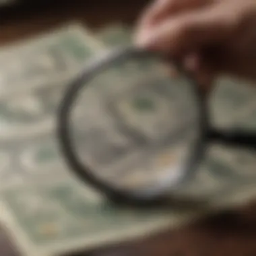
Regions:
M 0 44 L 47 31 L 72 20 L 97 29 L 105 24 L 134 24 L 148 0 L 39 0 L 21 7 L 0 9 Z M 50 4 L 51 3 L 51 4 Z

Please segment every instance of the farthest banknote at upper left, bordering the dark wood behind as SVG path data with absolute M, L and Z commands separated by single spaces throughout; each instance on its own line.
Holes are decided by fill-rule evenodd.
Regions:
M 77 24 L 3 46 L 0 51 L 1 98 L 25 89 L 67 83 L 97 47 L 100 49 L 99 42 L 88 33 L 83 34 Z

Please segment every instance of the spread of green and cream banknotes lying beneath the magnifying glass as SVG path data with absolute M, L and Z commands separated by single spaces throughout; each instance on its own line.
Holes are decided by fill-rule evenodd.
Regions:
M 0 221 L 24 256 L 148 236 L 256 195 L 255 152 L 220 145 L 209 147 L 195 177 L 174 195 L 200 203 L 173 203 L 169 209 L 115 207 L 69 171 L 55 133 L 59 100 L 88 59 L 129 44 L 131 35 L 121 24 L 98 32 L 67 24 L 0 51 Z M 139 69 L 131 81 L 133 75 Z M 110 73 L 105 82 L 118 86 L 121 79 Z M 256 130 L 255 88 L 228 77 L 216 83 L 209 99 L 212 123 Z

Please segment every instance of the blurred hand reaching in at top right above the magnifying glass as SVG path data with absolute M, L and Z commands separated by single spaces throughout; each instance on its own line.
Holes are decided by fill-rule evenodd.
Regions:
M 205 89 L 220 73 L 256 81 L 255 0 L 157 0 L 135 41 L 182 60 Z

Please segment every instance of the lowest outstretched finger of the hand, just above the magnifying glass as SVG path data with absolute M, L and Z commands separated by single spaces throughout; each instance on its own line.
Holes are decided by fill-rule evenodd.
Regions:
M 235 25 L 233 13 L 220 7 L 191 11 L 162 22 L 137 38 L 137 45 L 172 55 L 186 53 L 230 38 Z

